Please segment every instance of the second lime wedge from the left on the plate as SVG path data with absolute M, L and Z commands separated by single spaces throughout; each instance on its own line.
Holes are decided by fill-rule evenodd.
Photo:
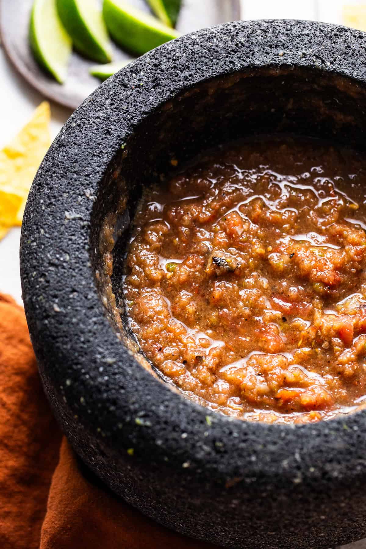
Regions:
M 96 0 L 56 0 L 56 5 L 75 49 L 99 63 L 111 61 L 111 43 Z

